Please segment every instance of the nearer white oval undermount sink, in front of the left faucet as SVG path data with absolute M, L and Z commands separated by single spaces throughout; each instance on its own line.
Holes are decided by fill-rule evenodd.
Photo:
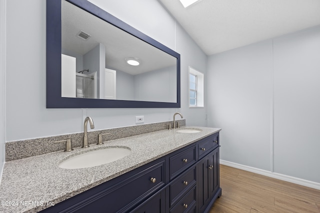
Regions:
M 106 147 L 104 149 L 96 149 L 80 155 L 75 155 L 62 161 L 59 164 L 59 167 L 64 169 L 95 167 L 119 160 L 130 153 L 131 150 L 128 147 Z

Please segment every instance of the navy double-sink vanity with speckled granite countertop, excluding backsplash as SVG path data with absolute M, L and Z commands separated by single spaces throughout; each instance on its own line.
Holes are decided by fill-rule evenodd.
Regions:
M 6 162 L 0 212 L 208 212 L 221 195 L 219 131 L 181 126 Z

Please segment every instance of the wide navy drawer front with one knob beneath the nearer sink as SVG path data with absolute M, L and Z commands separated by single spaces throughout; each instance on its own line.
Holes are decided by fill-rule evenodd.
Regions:
M 157 159 L 53 207 L 47 213 L 129 212 L 165 186 L 165 160 Z M 164 199 L 162 199 L 164 202 Z

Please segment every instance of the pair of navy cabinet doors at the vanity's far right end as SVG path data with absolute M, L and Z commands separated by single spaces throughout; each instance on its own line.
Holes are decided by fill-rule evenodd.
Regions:
M 199 213 L 209 212 L 214 201 L 221 196 L 219 185 L 219 148 L 217 147 L 197 163 Z

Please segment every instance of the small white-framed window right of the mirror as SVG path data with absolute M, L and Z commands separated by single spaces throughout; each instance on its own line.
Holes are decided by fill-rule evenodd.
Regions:
M 203 73 L 189 66 L 189 107 L 203 107 Z

